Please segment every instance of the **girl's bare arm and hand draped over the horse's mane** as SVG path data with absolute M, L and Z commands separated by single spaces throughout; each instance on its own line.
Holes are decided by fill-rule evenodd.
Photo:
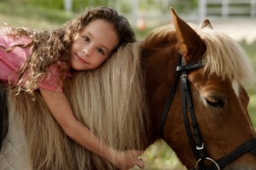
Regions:
M 124 154 L 123 152 L 112 150 L 80 123 L 74 116 L 65 94 L 44 88 L 39 89 L 46 105 L 49 107 L 49 111 L 69 138 L 81 144 L 87 150 L 113 162 L 121 169 L 128 169 L 135 165 L 141 168 L 144 167 L 143 161 L 137 159 L 137 156 L 142 154 L 141 151 L 128 150 Z M 112 156 L 113 151 L 115 151 L 114 156 Z

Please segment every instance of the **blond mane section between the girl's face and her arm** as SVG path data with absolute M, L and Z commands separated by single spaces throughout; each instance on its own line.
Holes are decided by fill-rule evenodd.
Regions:
M 75 75 L 75 82 L 66 88 L 73 88 L 67 91 L 73 94 L 67 96 L 79 120 L 119 150 L 140 148 L 139 141 L 146 134 L 143 126 L 147 105 L 139 54 L 139 43 L 129 43 L 100 69 Z

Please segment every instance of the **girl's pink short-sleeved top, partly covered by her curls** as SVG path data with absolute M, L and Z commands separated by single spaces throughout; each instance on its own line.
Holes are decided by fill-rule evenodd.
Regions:
M 0 81 L 14 84 L 17 81 L 16 71 L 25 63 L 30 55 L 30 48 L 15 47 L 11 52 L 6 52 L 2 47 L 9 48 L 15 44 L 27 44 L 29 37 L 10 37 L 0 33 Z M 2 46 L 2 47 L 1 47 Z M 67 73 L 70 76 L 70 73 Z M 62 92 L 62 85 L 58 83 L 59 70 L 56 65 L 49 67 L 49 77 L 39 82 L 38 87 L 51 91 Z

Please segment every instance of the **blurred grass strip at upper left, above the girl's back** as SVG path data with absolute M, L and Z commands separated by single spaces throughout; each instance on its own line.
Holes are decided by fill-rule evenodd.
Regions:
M 19 1 L 0 1 L 1 24 L 8 23 L 11 26 L 50 28 L 60 26 L 72 16 L 73 14 L 61 10 L 34 7 L 27 3 L 19 3 Z

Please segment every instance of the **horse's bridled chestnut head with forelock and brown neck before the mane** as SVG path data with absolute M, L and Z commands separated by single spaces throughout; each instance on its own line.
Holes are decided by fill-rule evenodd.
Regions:
M 154 138 L 165 139 L 188 168 L 198 161 L 201 167 L 255 169 L 256 133 L 242 86 L 253 76 L 246 54 L 208 20 L 195 29 L 172 10 L 172 21 L 174 28 L 142 42 Z

